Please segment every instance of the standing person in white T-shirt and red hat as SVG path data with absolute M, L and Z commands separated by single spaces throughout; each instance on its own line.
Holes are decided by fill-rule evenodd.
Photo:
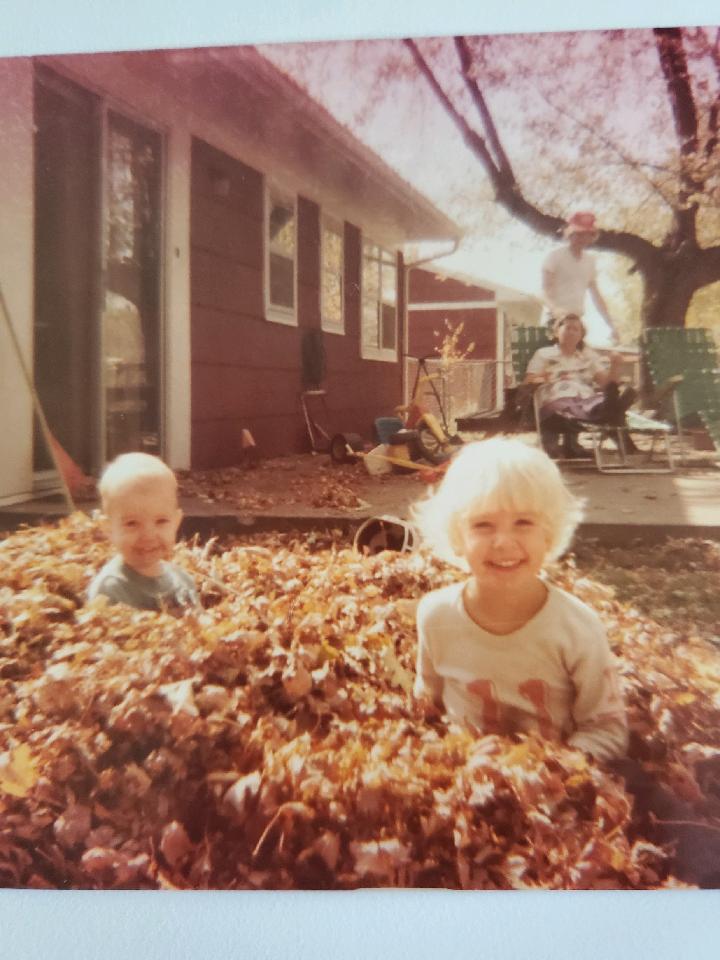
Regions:
M 543 263 L 543 294 L 550 311 L 548 326 L 552 329 L 556 321 L 569 313 L 582 317 L 585 295 L 589 290 L 598 313 L 617 342 L 615 323 L 597 287 L 595 258 L 586 249 L 597 240 L 597 235 L 594 213 L 574 213 L 563 232 L 567 243 L 546 257 Z

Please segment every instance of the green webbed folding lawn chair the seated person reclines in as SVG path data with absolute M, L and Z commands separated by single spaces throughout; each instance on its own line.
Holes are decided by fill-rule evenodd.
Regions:
M 545 327 L 518 327 L 514 331 L 511 353 L 513 369 L 518 383 L 525 380 L 527 366 L 535 351 L 539 350 L 540 347 L 549 346 L 551 343 L 552 340 Z M 536 391 L 533 391 L 532 394 L 532 404 L 535 428 L 539 435 L 540 410 Z M 592 439 L 595 466 L 600 473 L 671 473 L 675 469 L 670 447 L 672 427 L 669 423 L 644 416 L 636 410 L 628 410 L 625 415 L 625 426 L 617 427 L 611 424 L 591 423 L 583 420 L 580 421 L 580 428 L 583 433 L 589 434 Z M 637 457 L 634 460 L 628 459 L 626 438 L 632 435 L 640 435 L 650 440 L 650 447 L 646 452 L 644 463 Z M 607 439 L 614 440 L 617 445 L 617 457 L 613 459 L 607 459 L 605 456 L 607 451 L 604 449 L 603 443 Z M 665 459 L 660 463 L 653 461 L 655 445 L 658 441 L 662 441 L 662 449 L 665 454 Z

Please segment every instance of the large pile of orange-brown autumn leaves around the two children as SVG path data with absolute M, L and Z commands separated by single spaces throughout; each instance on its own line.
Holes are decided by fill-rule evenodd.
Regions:
M 81 515 L 0 543 L 0 884 L 679 883 L 582 754 L 417 712 L 414 601 L 457 576 L 423 553 L 360 557 L 340 534 L 180 546 L 203 608 L 179 619 L 84 605 L 106 556 Z M 556 578 L 607 624 L 634 756 L 718 829 L 720 781 L 698 770 L 720 757 L 720 654 L 572 565 Z

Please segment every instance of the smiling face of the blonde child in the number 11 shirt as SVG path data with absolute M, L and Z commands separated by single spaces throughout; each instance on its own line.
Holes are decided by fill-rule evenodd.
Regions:
M 461 522 L 462 555 L 479 586 L 520 590 L 537 578 L 550 537 L 534 513 L 472 511 Z

